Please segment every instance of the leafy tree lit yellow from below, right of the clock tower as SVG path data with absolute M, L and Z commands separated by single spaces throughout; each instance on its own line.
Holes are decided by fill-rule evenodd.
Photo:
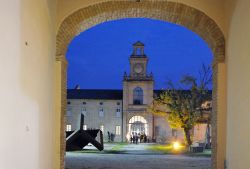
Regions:
M 202 65 L 199 81 L 191 75 L 184 75 L 178 85 L 168 81 L 168 89 L 155 98 L 151 111 L 168 113 L 171 128 L 181 128 L 187 145 L 192 144 L 191 129 L 202 118 L 202 103 L 209 100 L 209 85 L 212 82 L 211 67 Z

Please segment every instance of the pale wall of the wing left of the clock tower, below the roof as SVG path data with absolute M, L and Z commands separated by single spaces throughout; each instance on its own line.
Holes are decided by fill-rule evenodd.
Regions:
M 92 100 L 92 99 L 68 99 L 70 104 L 67 108 L 70 109 L 70 116 L 65 118 L 66 124 L 71 124 L 72 130 L 78 130 L 80 128 L 80 115 L 82 108 L 86 109 L 84 116 L 84 124 L 88 129 L 100 129 L 100 126 L 104 126 L 103 136 L 104 141 L 108 141 L 108 131 L 115 134 L 115 127 L 120 126 L 122 131 L 122 100 Z M 86 102 L 86 105 L 82 103 Z M 103 105 L 100 105 L 100 102 Z M 117 105 L 119 102 L 121 105 Z M 103 108 L 103 117 L 99 116 L 99 110 Z M 121 110 L 120 117 L 116 116 L 116 109 Z M 121 135 L 115 136 L 115 141 L 121 141 Z

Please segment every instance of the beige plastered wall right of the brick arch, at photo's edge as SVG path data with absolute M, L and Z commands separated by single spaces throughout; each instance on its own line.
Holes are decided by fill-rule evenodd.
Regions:
M 250 1 L 229 6 L 227 166 L 250 168 Z

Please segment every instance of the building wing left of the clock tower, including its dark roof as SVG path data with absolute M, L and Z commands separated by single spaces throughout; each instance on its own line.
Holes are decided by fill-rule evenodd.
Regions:
M 66 130 L 80 128 L 80 115 L 84 115 L 83 129 L 101 129 L 104 141 L 108 133 L 122 141 L 122 90 L 68 90 Z

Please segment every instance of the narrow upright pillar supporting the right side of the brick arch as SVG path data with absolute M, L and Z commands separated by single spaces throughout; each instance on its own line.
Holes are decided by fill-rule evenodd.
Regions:
M 226 64 L 213 65 L 212 169 L 223 169 L 226 159 Z

